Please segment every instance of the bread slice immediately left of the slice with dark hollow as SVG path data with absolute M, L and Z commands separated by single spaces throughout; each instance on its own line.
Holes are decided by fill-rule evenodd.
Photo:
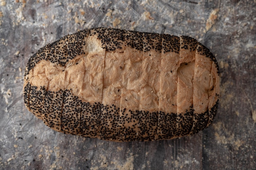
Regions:
M 177 69 L 180 63 L 180 38 L 163 34 L 159 88 L 159 118 L 155 139 L 171 139 L 176 132 Z

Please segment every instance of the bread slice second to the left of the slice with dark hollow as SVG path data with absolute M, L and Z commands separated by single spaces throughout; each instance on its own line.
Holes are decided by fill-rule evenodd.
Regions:
M 139 141 L 152 141 L 157 134 L 162 35 L 143 33 L 142 84 L 139 92 Z

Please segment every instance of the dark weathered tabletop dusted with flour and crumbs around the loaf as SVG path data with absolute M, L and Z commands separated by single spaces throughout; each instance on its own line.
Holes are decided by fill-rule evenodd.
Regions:
M 55 132 L 23 103 L 29 57 L 92 27 L 188 35 L 220 67 L 209 128 L 180 139 L 116 143 Z M 255 0 L 0 0 L 0 170 L 255 170 Z

